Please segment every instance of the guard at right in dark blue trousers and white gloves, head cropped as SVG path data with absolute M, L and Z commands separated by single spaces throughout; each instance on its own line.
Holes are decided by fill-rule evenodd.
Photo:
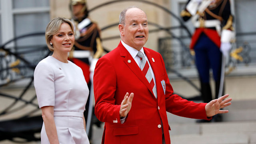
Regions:
M 230 0 L 188 0 L 180 15 L 184 21 L 191 18 L 196 28 L 190 49 L 195 52 L 202 100 L 210 102 L 210 69 L 215 80 L 215 98 L 224 93 L 224 58 L 229 54 L 230 40 L 234 37 Z M 213 120 L 221 121 L 222 118 L 216 116 Z

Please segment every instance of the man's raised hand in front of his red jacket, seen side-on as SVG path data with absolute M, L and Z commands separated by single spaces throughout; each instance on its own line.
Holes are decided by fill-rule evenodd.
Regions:
M 129 93 L 126 92 L 124 99 L 120 106 L 120 111 L 119 111 L 120 118 L 127 116 L 128 112 L 130 112 L 130 110 L 132 108 L 132 99 L 133 99 L 134 94 L 131 93 L 130 96 L 129 97 L 128 96 L 129 96 Z

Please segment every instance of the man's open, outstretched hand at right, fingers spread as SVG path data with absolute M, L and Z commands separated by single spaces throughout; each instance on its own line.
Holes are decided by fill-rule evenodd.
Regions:
M 225 108 L 226 106 L 229 106 L 231 104 L 230 101 L 232 100 L 232 98 L 228 98 L 224 100 L 228 96 L 229 96 L 228 94 L 225 94 L 224 96 L 218 99 L 208 102 L 205 106 L 206 116 L 211 117 L 216 114 L 228 113 L 228 110 L 220 110 L 221 108 Z

